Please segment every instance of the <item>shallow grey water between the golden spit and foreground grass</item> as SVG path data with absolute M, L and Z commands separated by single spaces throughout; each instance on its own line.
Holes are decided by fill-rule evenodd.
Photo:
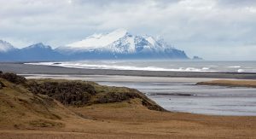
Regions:
M 256 89 L 195 85 L 195 82 L 98 82 L 125 86 L 145 93 L 172 112 L 256 116 Z

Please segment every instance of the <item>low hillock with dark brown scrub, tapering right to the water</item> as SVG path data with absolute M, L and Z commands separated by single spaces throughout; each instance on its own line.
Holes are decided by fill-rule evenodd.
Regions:
M 34 94 L 47 95 L 64 105 L 86 106 L 98 103 L 114 103 L 141 99 L 148 109 L 165 111 L 138 90 L 125 87 L 108 87 L 93 82 L 65 80 L 32 80 L 26 86 Z

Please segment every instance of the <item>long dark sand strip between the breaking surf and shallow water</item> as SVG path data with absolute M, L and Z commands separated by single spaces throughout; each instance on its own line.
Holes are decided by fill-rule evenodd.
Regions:
M 0 62 L 0 71 L 17 74 L 56 74 L 56 75 L 123 75 L 140 77 L 168 78 L 236 78 L 256 79 L 255 72 L 168 72 L 168 71 L 136 71 L 110 69 L 84 69 L 73 67 L 57 67 L 27 65 L 19 62 Z

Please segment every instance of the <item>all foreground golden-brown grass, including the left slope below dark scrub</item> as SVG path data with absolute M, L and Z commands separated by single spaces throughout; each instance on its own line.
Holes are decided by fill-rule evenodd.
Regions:
M 153 111 L 138 98 L 67 107 L 3 83 L 8 87 L 0 90 L 1 139 L 256 138 L 256 117 Z

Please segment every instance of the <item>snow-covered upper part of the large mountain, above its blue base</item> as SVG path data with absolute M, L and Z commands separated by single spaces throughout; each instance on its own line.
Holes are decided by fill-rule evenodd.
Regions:
M 82 41 L 69 43 L 56 50 L 61 53 L 110 52 L 114 54 L 165 53 L 174 49 L 163 39 L 143 35 L 133 36 L 125 29 L 118 29 L 108 34 L 93 34 Z

